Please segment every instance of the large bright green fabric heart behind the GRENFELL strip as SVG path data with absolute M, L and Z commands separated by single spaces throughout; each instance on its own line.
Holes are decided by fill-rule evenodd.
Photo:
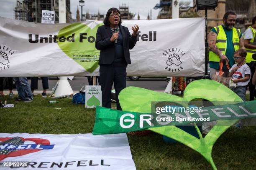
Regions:
M 218 101 L 223 101 L 221 105 L 228 104 L 228 102 L 225 101 L 242 101 L 241 98 L 228 87 L 225 87 L 219 82 L 207 79 L 196 80 L 189 83 L 184 91 L 183 97 L 154 92 L 139 87 L 126 87 L 120 92 L 118 98 L 123 110 L 144 113 L 151 112 L 152 101 L 174 101 L 177 103 L 179 103 L 179 101 L 183 101 L 179 103 L 181 105 L 184 105 L 184 102 L 187 102 L 188 105 L 190 100 L 196 98 L 207 99 L 214 105 L 220 105 L 220 102 Z M 236 121 L 237 120 L 218 120 L 217 124 L 212 128 L 212 130 L 210 130 L 205 138 L 202 138 L 199 128 L 194 123 L 200 139 L 190 135 L 180 128 L 177 128 L 176 126 L 149 128 L 149 130 L 177 140 L 180 143 L 187 145 L 189 148 L 199 152 L 212 165 L 212 168 L 216 170 L 217 167 L 212 160 L 212 147 L 220 135 Z M 224 122 L 225 126 L 223 125 Z

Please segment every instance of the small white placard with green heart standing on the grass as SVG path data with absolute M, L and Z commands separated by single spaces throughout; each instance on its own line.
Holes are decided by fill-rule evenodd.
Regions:
M 85 107 L 95 108 L 101 106 L 102 94 L 100 85 L 86 85 L 85 86 Z

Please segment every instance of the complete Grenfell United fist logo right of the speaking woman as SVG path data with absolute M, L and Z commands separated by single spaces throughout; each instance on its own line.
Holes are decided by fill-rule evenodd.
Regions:
M 163 53 L 163 57 L 166 58 L 165 70 L 169 72 L 179 72 L 183 70 L 182 57 L 186 54 L 184 51 L 178 48 L 169 48 Z

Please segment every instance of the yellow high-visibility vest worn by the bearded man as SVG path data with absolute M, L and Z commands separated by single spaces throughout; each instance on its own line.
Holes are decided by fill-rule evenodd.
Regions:
M 222 25 L 219 25 L 217 27 L 214 27 L 214 29 L 217 31 L 217 41 L 216 41 L 216 46 L 220 49 L 220 51 L 226 55 L 227 51 L 227 36 L 225 34 L 225 31 L 222 27 Z M 233 35 L 232 35 L 232 42 L 234 45 L 235 51 L 239 49 L 239 37 L 240 37 L 240 30 L 237 28 L 233 28 Z M 220 61 L 220 57 L 209 50 L 209 61 Z

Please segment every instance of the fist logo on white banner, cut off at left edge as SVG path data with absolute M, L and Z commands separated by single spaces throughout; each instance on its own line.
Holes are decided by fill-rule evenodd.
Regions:
M 5 45 L 0 45 L 0 71 L 10 68 L 9 56 L 13 55 L 13 53 L 13 50 L 11 50 L 9 47 L 6 47 Z

